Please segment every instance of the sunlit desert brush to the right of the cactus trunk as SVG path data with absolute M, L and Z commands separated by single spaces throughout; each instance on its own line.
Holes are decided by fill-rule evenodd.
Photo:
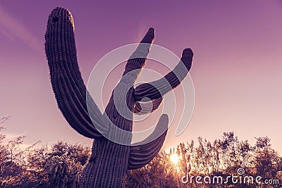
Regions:
M 180 158 L 175 166 L 169 158 L 173 153 Z M 231 180 L 225 184 L 228 175 L 238 175 L 240 168 L 245 170 L 242 178 L 261 176 L 262 184 L 257 184 L 255 180 L 253 184 L 233 184 Z M 187 184 L 181 182 L 181 177 L 186 174 L 194 176 L 192 183 L 190 179 Z M 196 184 L 195 177 L 198 175 L 202 178 L 221 176 L 223 183 Z M 279 184 L 265 184 L 264 180 L 278 180 Z M 256 138 L 252 146 L 247 140 L 239 140 L 233 132 L 224 132 L 221 139 L 214 142 L 199 137 L 198 146 L 191 141 L 180 143 L 168 153 L 162 151 L 145 168 L 131 171 L 125 187 L 279 187 L 281 183 L 282 158 L 271 149 L 268 137 Z

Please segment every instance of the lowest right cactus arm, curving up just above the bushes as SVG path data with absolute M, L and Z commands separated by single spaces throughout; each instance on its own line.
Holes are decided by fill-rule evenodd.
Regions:
M 130 146 L 130 156 L 128 159 L 128 169 L 136 169 L 141 168 L 142 166 L 146 165 L 151 161 L 154 156 L 159 153 L 161 146 L 164 144 L 164 139 L 166 138 L 166 132 L 168 128 L 168 115 L 163 114 L 161 118 L 159 118 L 159 122 L 157 127 L 155 128 L 154 132 L 149 135 L 145 140 L 142 142 L 138 142 L 137 144 Z M 158 135 L 161 136 L 158 137 Z M 157 137 L 157 139 L 155 139 Z M 151 142 L 148 142 L 153 140 Z M 148 143 L 146 143 L 148 142 Z M 146 143 L 146 144 L 142 144 Z

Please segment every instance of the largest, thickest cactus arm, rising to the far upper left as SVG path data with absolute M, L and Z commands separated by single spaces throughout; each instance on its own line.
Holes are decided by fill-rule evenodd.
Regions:
M 45 34 L 45 52 L 51 84 L 58 106 L 71 127 L 85 137 L 99 139 L 102 134 L 92 124 L 87 111 L 86 95 L 89 94 L 78 68 L 73 31 L 71 12 L 64 8 L 55 8 L 49 15 Z M 95 115 L 93 122 L 106 125 L 94 101 L 91 108 Z M 104 131 L 107 131 L 106 127 Z

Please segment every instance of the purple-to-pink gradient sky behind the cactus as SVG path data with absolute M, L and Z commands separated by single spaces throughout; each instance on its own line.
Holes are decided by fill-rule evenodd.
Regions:
M 4 124 L 8 138 L 26 135 L 25 144 L 92 142 L 66 123 L 51 90 L 44 33 L 56 6 L 73 13 L 85 82 L 102 56 L 139 42 L 149 27 L 156 30 L 154 43 L 177 56 L 185 47 L 192 48 L 195 111 L 183 134 L 176 137 L 175 127 L 168 130 L 166 148 L 199 136 L 212 141 L 234 131 L 252 144 L 255 137 L 268 136 L 282 153 L 282 1 L 278 0 L 1 1 L 0 118 L 11 115 Z

